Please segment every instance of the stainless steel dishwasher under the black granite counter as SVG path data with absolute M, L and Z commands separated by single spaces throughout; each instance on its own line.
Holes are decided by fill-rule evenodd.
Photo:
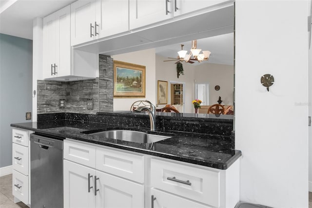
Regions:
M 63 207 L 63 138 L 30 134 L 30 204 Z

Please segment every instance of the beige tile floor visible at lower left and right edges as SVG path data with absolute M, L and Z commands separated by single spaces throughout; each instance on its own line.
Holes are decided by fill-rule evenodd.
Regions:
M 0 208 L 28 208 L 22 202 L 14 204 L 12 174 L 0 177 Z M 312 208 L 312 192 L 309 192 L 309 208 Z

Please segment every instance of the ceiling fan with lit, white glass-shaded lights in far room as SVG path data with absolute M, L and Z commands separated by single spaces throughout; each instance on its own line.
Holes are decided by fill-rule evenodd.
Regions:
M 190 54 L 187 54 L 187 51 L 183 50 L 183 44 L 181 44 L 181 51 L 177 52 L 178 56 L 177 58 L 172 58 L 172 57 L 168 57 L 168 58 L 172 58 L 173 60 L 164 60 L 164 61 L 174 61 L 177 60 L 175 64 L 177 64 L 178 62 L 183 62 L 185 61 L 186 63 L 194 63 L 194 60 L 198 61 L 198 62 L 202 62 L 203 60 L 208 60 L 209 56 L 211 54 L 210 51 L 203 51 L 202 54 L 199 54 L 201 49 L 197 49 L 197 40 L 192 40 L 192 49 Z M 191 58 L 193 55 L 193 58 Z

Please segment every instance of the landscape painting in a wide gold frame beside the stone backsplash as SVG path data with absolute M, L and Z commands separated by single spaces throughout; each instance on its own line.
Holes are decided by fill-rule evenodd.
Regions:
M 145 97 L 145 66 L 114 60 L 114 97 Z

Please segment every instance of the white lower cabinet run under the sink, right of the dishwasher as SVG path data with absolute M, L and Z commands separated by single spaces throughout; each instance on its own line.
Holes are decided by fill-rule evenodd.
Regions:
M 239 201 L 239 159 L 219 170 L 66 139 L 63 164 L 65 208 L 233 208 Z

